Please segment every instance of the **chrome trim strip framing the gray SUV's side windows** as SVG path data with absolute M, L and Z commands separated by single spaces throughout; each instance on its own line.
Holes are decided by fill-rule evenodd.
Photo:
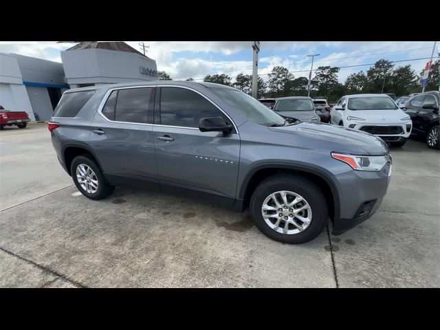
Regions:
M 173 127 L 176 129 L 195 129 L 197 131 L 199 131 L 199 129 L 197 129 L 196 127 L 188 127 L 188 126 L 173 126 L 173 125 L 163 125 L 163 124 L 148 124 L 148 123 L 142 123 L 142 122 L 119 122 L 117 120 L 109 120 L 109 118 L 107 118 L 105 115 L 102 114 L 102 109 L 104 109 L 104 105 L 107 102 L 107 99 L 109 98 L 110 94 L 113 91 L 117 91 L 119 89 L 131 89 L 131 88 L 153 88 L 153 87 L 177 87 L 177 88 L 184 88 L 184 89 L 189 89 L 190 91 L 194 91 L 195 93 L 199 94 L 200 96 L 202 96 L 203 98 L 205 98 L 206 100 L 208 100 L 208 102 L 214 104 L 214 107 L 217 107 L 217 109 L 219 109 L 221 111 L 221 113 L 223 113 L 223 115 L 225 115 L 231 122 L 232 125 L 234 126 L 234 129 L 236 131 L 236 134 L 239 134 L 239 129 L 237 128 L 234 120 L 232 120 L 232 118 L 230 118 L 230 115 L 228 115 L 228 113 L 225 113 L 225 111 L 223 111 L 223 109 L 221 109 L 217 104 L 215 104 L 212 100 L 210 100 L 209 98 L 207 98 L 206 96 L 204 96 L 203 94 L 201 94 L 199 91 L 196 91 L 195 89 L 192 89 L 190 87 L 186 87 L 186 86 L 179 86 L 179 85 L 151 85 L 151 86 L 130 86 L 130 87 L 115 87 L 112 89 L 109 89 L 105 95 L 104 98 L 102 98 L 102 101 L 99 104 L 98 107 L 98 114 L 101 116 L 101 118 L 103 118 L 105 121 L 107 122 L 116 122 L 118 124 L 136 124 L 136 125 L 144 125 L 144 126 L 159 126 L 159 127 Z

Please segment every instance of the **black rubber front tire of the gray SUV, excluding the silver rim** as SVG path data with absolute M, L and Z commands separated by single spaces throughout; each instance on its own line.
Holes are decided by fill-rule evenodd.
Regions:
M 261 214 L 263 202 L 270 194 L 280 190 L 296 192 L 309 203 L 312 218 L 309 226 L 302 232 L 297 234 L 279 233 L 265 222 L 263 214 Z M 250 214 L 256 228 L 259 228 L 270 239 L 289 244 L 301 244 L 311 241 L 325 228 L 328 219 L 327 200 L 322 190 L 306 177 L 287 174 L 272 175 L 255 188 L 250 200 Z

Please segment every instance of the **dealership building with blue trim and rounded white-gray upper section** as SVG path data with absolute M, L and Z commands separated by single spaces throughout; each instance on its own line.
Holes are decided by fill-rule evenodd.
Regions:
M 123 42 L 78 43 L 61 61 L 0 53 L 0 105 L 49 120 L 67 89 L 157 80 L 156 62 Z

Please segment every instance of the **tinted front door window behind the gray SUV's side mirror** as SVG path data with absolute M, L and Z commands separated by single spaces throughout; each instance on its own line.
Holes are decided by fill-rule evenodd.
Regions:
M 162 87 L 160 120 L 163 125 L 199 127 L 200 118 L 222 117 L 223 113 L 203 96 L 179 87 Z

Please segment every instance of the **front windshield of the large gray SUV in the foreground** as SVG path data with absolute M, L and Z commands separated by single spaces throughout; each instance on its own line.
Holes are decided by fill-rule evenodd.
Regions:
M 285 123 L 285 118 L 274 113 L 274 111 L 267 108 L 259 100 L 255 100 L 252 96 L 243 93 L 243 91 L 229 88 L 212 88 L 211 91 L 222 98 L 234 110 L 239 111 L 239 113 L 256 124 L 273 126 Z

